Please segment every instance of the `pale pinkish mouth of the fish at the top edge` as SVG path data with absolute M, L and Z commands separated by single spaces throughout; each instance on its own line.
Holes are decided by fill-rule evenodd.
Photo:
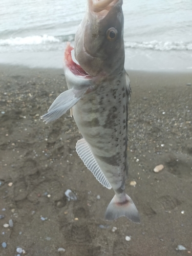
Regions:
M 118 2 L 119 0 L 88 0 L 89 11 L 103 18 Z

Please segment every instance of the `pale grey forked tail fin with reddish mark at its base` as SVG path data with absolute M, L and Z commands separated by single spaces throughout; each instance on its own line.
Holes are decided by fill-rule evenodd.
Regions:
M 115 195 L 106 208 L 105 220 L 114 220 L 125 216 L 133 222 L 140 223 L 139 213 L 132 199 L 126 195 L 125 202 L 118 201 L 118 197 Z

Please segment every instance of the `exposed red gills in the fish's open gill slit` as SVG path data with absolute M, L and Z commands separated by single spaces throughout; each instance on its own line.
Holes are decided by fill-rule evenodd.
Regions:
M 84 71 L 80 65 L 73 61 L 71 56 L 71 51 L 74 48 L 70 45 L 70 42 L 67 42 L 67 47 L 65 50 L 65 62 L 69 70 L 76 76 L 83 76 L 85 78 L 91 78 L 91 76 Z

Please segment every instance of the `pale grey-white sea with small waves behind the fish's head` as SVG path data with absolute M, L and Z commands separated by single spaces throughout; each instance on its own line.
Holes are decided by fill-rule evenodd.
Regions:
M 62 68 L 87 0 L 1 0 L 0 63 Z M 125 68 L 192 72 L 192 1 L 124 0 Z

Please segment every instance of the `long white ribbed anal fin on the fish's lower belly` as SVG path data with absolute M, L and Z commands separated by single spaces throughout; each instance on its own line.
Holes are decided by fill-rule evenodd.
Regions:
M 91 148 L 88 142 L 85 139 L 77 141 L 76 152 L 79 155 L 80 159 L 83 161 L 84 165 L 91 170 L 95 178 L 106 188 L 111 189 L 112 186 L 109 181 L 106 179 L 102 170 L 100 169 L 95 157 L 91 151 Z

